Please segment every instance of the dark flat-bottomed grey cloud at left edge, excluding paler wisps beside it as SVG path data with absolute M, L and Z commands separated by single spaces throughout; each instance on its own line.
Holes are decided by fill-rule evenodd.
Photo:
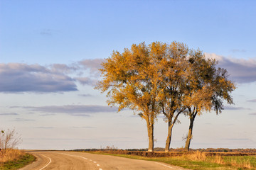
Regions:
M 77 91 L 74 80 L 39 64 L 0 64 L 0 92 Z

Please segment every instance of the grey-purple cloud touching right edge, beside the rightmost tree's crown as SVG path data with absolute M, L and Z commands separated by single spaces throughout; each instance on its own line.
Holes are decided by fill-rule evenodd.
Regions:
M 237 83 L 256 81 L 256 59 L 234 59 L 220 55 L 205 53 L 206 57 L 218 60 L 218 67 L 228 70 L 230 79 Z

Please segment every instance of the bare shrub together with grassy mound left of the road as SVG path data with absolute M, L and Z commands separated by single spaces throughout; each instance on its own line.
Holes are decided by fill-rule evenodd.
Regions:
M 21 135 L 15 130 L 1 130 L 0 135 L 0 170 L 19 169 L 36 160 L 31 154 L 16 149 L 21 143 Z

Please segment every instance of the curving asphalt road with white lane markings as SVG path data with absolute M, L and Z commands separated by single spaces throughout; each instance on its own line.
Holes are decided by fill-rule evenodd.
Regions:
M 149 162 L 138 159 L 128 159 L 101 154 L 82 152 L 33 151 L 30 152 L 37 161 L 22 168 L 22 170 L 181 170 L 160 162 Z

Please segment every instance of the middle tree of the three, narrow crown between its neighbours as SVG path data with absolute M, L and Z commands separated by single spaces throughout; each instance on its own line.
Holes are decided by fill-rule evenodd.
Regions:
M 158 97 L 162 113 L 168 123 L 165 152 L 169 152 L 171 135 L 178 116 L 186 109 L 183 106 L 185 80 L 188 79 L 188 47 L 181 42 L 168 45 L 166 54 L 161 60 L 161 90 Z

